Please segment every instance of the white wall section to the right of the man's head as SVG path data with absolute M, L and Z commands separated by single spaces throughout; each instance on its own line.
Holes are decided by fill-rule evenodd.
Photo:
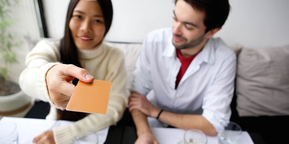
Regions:
M 288 0 L 230 0 L 231 12 L 216 36 L 231 45 L 262 48 L 289 44 Z

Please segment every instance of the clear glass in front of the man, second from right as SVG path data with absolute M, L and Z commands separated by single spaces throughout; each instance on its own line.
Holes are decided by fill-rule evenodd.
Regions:
M 184 143 L 185 144 L 206 144 L 208 138 L 205 133 L 201 130 L 190 129 L 187 130 L 184 134 Z

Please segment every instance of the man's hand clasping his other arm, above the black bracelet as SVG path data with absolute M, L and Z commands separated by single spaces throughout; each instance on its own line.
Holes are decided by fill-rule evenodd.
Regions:
M 129 96 L 129 112 L 134 109 L 140 110 L 149 117 L 157 117 L 160 109 L 154 107 L 146 97 L 138 93 L 131 93 Z

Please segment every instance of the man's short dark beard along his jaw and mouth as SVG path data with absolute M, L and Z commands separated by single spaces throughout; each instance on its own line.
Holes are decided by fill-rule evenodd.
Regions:
M 179 39 L 183 39 L 183 40 L 185 40 L 185 41 L 188 40 L 188 39 L 186 39 L 186 38 L 184 38 L 184 37 L 182 37 L 182 36 L 180 36 L 180 35 L 177 35 L 177 34 L 175 34 L 174 36 L 177 37 L 177 38 L 179 38 Z M 187 42 L 187 43 L 184 43 L 184 44 L 182 44 L 182 45 L 175 45 L 174 43 L 173 43 L 173 45 L 174 45 L 177 49 L 189 49 L 189 48 L 192 48 L 192 47 L 195 47 L 195 46 L 199 45 L 199 44 L 204 40 L 204 36 L 205 36 L 205 34 L 201 35 L 201 36 L 200 36 L 199 38 L 197 38 L 197 39 L 191 40 L 191 41 L 189 41 L 189 42 Z

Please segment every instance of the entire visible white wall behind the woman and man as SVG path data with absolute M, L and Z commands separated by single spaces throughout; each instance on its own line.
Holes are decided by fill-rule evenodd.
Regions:
M 228 45 L 270 47 L 289 44 L 288 0 L 229 0 L 231 12 L 216 37 Z M 69 0 L 43 0 L 50 37 L 61 38 Z M 174 0 L 112 0 L 114 19 L 106 40 L 142 42 L 160 27 L 171 27 Z

